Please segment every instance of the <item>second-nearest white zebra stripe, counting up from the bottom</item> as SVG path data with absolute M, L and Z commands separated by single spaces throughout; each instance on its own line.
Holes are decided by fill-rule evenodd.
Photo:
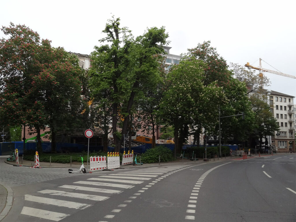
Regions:
M 57 200 L 57 199 L 39 197 L 39 196 L 31 196 L 28 194 L 25 194 L 25 200 L 37 202 L 37 203 L 43 203 L 43 204 L 56 205 L 59 207 L 74 208 L 74 209 L 79 209 L 79 210 L 82 210 L 86 207 L 91 206 L 90 204 L 83 204 L 83 203 L 72 202 L 72 201 L 67 201 L 67 200 Z

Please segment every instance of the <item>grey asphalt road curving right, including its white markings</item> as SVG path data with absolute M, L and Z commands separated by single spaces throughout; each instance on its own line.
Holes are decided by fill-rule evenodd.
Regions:
M 296 221 L 295 154 L 92 174 L 24 168 L 17 185 L 7 168 L 14 202 L 2 221 Z

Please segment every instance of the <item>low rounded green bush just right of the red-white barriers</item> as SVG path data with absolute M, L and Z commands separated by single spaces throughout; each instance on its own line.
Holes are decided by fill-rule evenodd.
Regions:
M 143 163 L 157 163 L 159 162 L 169 162 L 175 160 L 173 157 L 173 152 L 165 146 L 157 146 L 155 148 L 148 149 L 144 154 L 141 155 L 141 162 Z M 137 156 L 137 160 L 139 156 Z M 140 159 L 139 159 L 140 160 Z

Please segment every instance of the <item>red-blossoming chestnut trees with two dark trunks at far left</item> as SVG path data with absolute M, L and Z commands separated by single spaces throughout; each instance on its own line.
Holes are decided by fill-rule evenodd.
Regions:
M 1 39 L 0 48 L 6 122 L 13 126 L 27 124 L 31 133 L 37 133 L 38 149 L 40 130 L 49 125 L 55 151 L 57 130 L 76 126 L 84 106 L 78 59 L 63 48 L 51 47 L 48 40 L 40 42 L 38 33 L 24 25 L 11 23 L 2 30 L 10 35 L 7 40 Z

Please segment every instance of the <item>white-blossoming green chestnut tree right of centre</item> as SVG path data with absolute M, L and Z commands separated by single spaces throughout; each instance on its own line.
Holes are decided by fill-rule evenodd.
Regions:
M 205 64 L 195 58 L 186 58 L 173 66 L 160 103 L 159 121 L 174 127 L 175 156 L 189 134 L 189 125 L 211 127 L 217 121 L 222 88 L 214 83 L 204 84 Z

